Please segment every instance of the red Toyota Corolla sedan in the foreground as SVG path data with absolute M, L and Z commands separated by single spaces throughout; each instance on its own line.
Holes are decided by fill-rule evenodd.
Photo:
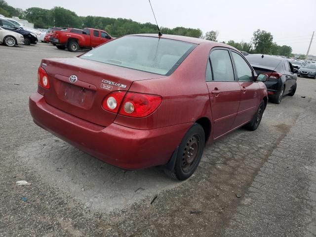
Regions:
M 185 180 L 206 141 L 259 126 L 266 79 L 226 44 L 131 35 L 43 59 L 29 106 L 36 124 L 96 158 Z

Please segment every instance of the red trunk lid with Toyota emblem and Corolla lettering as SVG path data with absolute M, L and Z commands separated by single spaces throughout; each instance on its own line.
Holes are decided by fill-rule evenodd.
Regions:
M 101 126 L 110 125 L 117 116 L 102 108 L 109 93 L 127 91 L 135 80 L 165 77 L 78 57 L 43 59 L 41 66 L 50 82 L 50 89 L 44 90 L 45 101 Z

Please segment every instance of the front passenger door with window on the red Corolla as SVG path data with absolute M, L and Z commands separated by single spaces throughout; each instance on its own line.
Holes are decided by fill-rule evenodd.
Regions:
M 234 50 L 231 50 L 235 64 L 238 83 L 240 86 L 240 104 L 233 128 L 247 123 L 257 111 L 260 102 L 259 85 L 254 81 L 253 72 L 244 58 Z

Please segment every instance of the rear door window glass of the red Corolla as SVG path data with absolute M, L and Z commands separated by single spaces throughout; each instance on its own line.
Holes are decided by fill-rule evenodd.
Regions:
M 214 80 L 234 81 L 232 60 L 228 50 L 216 49 L 210 55 Z

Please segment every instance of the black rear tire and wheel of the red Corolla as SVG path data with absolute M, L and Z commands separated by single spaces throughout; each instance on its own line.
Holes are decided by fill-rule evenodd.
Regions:
M 173 179 L 186 180 L 197 169 L 205 146 L 204 129 L 195 123 L 183 137 L 173 169 L 165 169 L 164 172 Z

